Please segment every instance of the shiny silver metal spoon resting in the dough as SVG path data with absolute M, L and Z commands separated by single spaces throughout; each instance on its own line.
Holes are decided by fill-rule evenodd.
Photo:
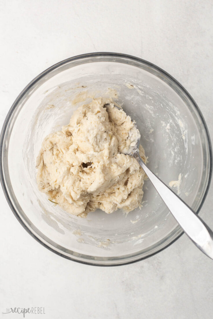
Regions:
M 107 109 L 110 104 L 105 104 L 104 107 Z M 115 108 L 121 110 L 116 105 Z M 134 122 L 133 122 L 134 123 Z M 143 168 L 147 174 L 149 180 L 154 185 L 160 197 L 163 199 L 166 206 L 171 211 L 174 218 L 177 220 L 179 225 L 182 227 L 186 235 L 194 242 L 194 244 L 208 257 L 213 259 L 213 232 L 204 223 L 204 221 L 186 204 L 181 198 L 179 198 L 164 182 L 162 182 L 150 169 L 144 164 L 139 155 L 139 143 L 140 133 L 134 123 L 133 135 L 137 132 L 138 139 L 135 143 L 131 143 L 131 146 L 125 154 L 133 156 Z M 134 145 L 133 145 L 134 144 Z

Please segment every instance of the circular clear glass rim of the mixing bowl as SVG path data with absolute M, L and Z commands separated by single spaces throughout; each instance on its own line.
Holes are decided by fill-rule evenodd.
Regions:
M 202 208 L 202 205 L 206 199 L 207 193 L 209 191 L 209 187 L 210 187 L 210 182 L 211 182 L 211 177 L 212 177 L 212 146 L 211 146 L 211 140 L 210 140 L 210 136 L 209 136 L 209 130 L 207 128 L 206 122 L 204 120 L 204 117 L 199 109 L 199 107 L 197 106 L 196 102 L 194 101 L 194 99 L 192 98 L 192 96 L 188 93 L 188 91 L 175 79 L 173 78 L 169 73 L 167 73 L 166 71 L 164 71 L 163 69 L 159 68 L 158 66 L 156 66 L 153 63 L 150 63 L 146 60 L 143 60 L 141 58 L 138 58 L 136 56 L 131 56 L 131 55 L 127 55 L 127 54 L 122 54 L 122 53 L 114 53 L 114 52 L 93 52 L 93 53 L 86 53 L 86 54 L 81 54 L 81 55 L 77 55 L 77 56 L 73 56 L 70 58 L 67 58 L 65 60 L 62 60 L 56 64 L 53 64 L 52 66 L 50 66 L 48 69 L 44 70 L 43 72 L 41 72 L 38 76 L 36 76 L 28 85 L 26 85 L 26 87 L 21 91 L 21 93 L 18 95 L 18 97 L 16 98 L 16 100 L 13 102 L 8 114 L 6 115 L 6 118 L 4 120 L 3 123 L 3 127 L 2 127 L 2 131 L 1 131 L 1 135 L 0 135 L 0 158 L 1 158 L 1 164 L 3 164 L 3 149 L 4 149 L 4 136 L 5 136 L 5 132 L 7 129 L 7 125 L 8 122 L 15 110 L 15 108 L 17 107 L 19 101 L 22 99 L 22 97 L 25 95 L 25 93 L 31 88 L 31 86 L 33 86 L 39 79 L 41 79 L 44 75 L 48 74 L 50 71 L 55 70 L 57 67 L 65 64 L 65 63 L 69 63 L 72 61 L 77 61 L 80 60 L 82 58 L 89 58 L 89 57 L 115 57 L 115 58 L 127 58 L 129 60 L 132 60 L 133 62 L 138 62 L 138 63 L 143 63 L 148 67 L 151 67 L 152 69 L 155 69 L 156 71 L 162 73 L 165 77 L 167 77 L 169 80 L 171 80 L 172 82 L 175 83 L 175 85 L 177 85 L 177 87 L 179 87 L 180 90 L 182 90 L 185 95 L 187 96 L 187 98 L 190 100 L 190 102 L 194 105 L 194 108 L 196 109 L 198 116 L 200 117 L 202 124 L 204 126 L 205 129 L 205 133 L 206 133 L 206 137 L 207 137 L 207 142 L 208 142 L 208 152 L 209 152 L 209 175 L 208 175 L 208 182 L 206 185 L 206 189 L 205 192 L 203 194 L 203 198 L 202 201 L 196 211 L 196 213 L 198 214 L 199 211 Z M 83 63 L 82 63 L 83 64 Z M 127 63 L 125 63 L 127 64 Z M 20 224 L 27 230 L 27 232 L 36 240 L 38 241 L 40 244 L 42 244 L 42 246 L 46 247 L 47 249 L 49 249 L 50 251 L 56 253 L 59 256 L 62 256 L 66 259 L 78 262 L 78 263 L 83 263 L 83 264 L 88 264 L 88 265 L 94 265 L 94 266 L 120 266 L 120 265 L 125 265 L 125 264 L 129 264 L 129 263 L 135 263 L 137 261 L 146 259 L 148 257 L 151 257 L 157 253 L 159 253 L 160 251 L 164 250 L 165 248 L 169 247 L 171 244 L 173 244 L 176 240 L 178 240 L 180 238 L 180 236 L 182 236 L 182 234 L 184 233 L 183 231 L 180 231 L 179 234 L 177 234 L 175 236 L 174 239 L 172 239 L 169 243 L 167 243 L 164 247 L 157 249 L 155 252 L 153 253 L 149 253 L 148 256 L 140 256 L 140 252 L 138 253 L 138 255 L 136 256 L 135 259 L 133 260 L 127 260 L 125 261 L 124 256 L 121 256 L 121 258 L 119 260 L 117 260 L 117 263 L 114 263 L 113 260 L 109 260 L 109 262 L 107 263 L 102 263 L 100 261 L 95 261 L 95 260 L 84 260 L 84 259 L 75 259 L 73 256 L 67 256 L 53 248 L 51 248 L 50 246 L 48 246 L 46 243 L 44 243 L 39 236 L 36 236 L 34 233 L 32 233 L 32 231 L 27 227 L 27 225 L 24 223 L 24 221 L 20 218 L 19 214 L 17 213 L 14 205 L 11 202 L 10 196 L 8 194 L 7 188 L 6 188 L 6 182 L 4 180 L 4 172 L 3 172 L 3 165 L 0 165 L 0 181 L 1 181 L 1 185 L 4 191 L 4 195 L 6 197 L 6 200 L 12 210 L 12 212 L 14 213 L 14 215 L 16 216 L 16 218 L 19 220 Z M 127 256 L 127 255 L 126 255 Z M 95 262 L 95 263 L 94 263 Z

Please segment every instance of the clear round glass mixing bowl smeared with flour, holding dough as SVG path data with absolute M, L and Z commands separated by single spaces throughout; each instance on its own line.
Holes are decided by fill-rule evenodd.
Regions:
M 19 222 L 42 245 L 91 265 L 121 265 L 151 256 L 182 230 L 154 187 L 144 183 L 141 209 L 97 210 L 86 219 L 49 202 L 36 184 L 43 138 L 69 122 L 92 97 L 112 96 L 137 122 L 148 167 L 196 212 L 209 189 L 212 153 L 203 116 L 186 90 L 157 66 L 133 56 L 91 53 L 42 72 L 13 103 L 1 133 L 0 177 Z

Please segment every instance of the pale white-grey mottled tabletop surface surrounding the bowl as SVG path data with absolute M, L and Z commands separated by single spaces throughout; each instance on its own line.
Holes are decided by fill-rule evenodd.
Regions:
M 199 105 L 213 139 L 212 1 L 10 0 L 1 1 L 0 16 L 0 125 L 19 92 L 47 67 L 112 51 L 146 59 L 175 77 Z M 3 315 L 8 307 L 43 306 L 43 317 L 51 319 L 212 318 L 213 261 L 186 235 L 138 263 L 87 266 L 37 243 L 2 189 L 0 201 L 0 317 L 22 318 Z M 213 184 L 200 213 L 213 228 L 212 206 Z

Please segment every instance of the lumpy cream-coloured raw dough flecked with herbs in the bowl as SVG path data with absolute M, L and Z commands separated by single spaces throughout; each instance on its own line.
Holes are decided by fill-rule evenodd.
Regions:
M 133 142 L 133 122 L 123 110 L 94 99 L 80 106 L 68 125 L 49 134 L 37 157 L 37 184 L 51 201 L 86 217 L 100 208 L 129 212 L 141 204 L 144 171 L 122 152 Z M 135 136 L 134 136 L 135 137 Z M 140 155 L 146 157 L 140 145 Z

